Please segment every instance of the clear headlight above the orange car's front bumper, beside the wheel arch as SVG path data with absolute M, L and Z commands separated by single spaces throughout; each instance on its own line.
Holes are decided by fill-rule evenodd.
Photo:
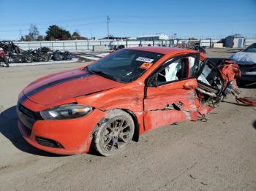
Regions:
M 44 120 L 66 120 L 83 117 L 92 111 L 91 106 L 66 104 L 40 112 Z

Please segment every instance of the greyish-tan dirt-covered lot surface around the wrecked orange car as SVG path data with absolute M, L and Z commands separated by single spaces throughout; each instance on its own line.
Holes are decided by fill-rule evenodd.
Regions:
M 224 51 L 208 54 L 228 58 Z M 256 190 L 256 108 L 232 96 L 208 122 L 153 130 L 115 157 L 53 155 L 26 144 L 16 125 L 20 90 L 84 64 L 0 68 L 0 190 Z

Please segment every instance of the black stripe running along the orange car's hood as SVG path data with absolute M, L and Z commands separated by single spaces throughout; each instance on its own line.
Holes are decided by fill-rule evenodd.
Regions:
M 27 98 L 31 97 L 32 95 L 36 94 L 36 93 L 39 93 L 45 89 L 48 89 L 49 87 L 53 87 L 55 85 L 59 85 L 61 83 L 64 83 L 64 82 L 68 82 L 68 81 L 71 81 L 71 80 L 74 80 L 74 79 L 79 79 L 79 78 L 84 78 L 84 77 L 89 77 L 91 76 L 92 74 L 91 73 L 86 73 L 86 74 L 79 74 L 79 75 L 76 75 L 76 76 L 72 76 L 72 77 L 67 77 L 67 78 L 63 78 L 63 79 L 58 79 L 56 81 L 53 81 L 53 82 L 50 82 L 46 85 L 42 85 L 40 87 L 37 87 L 36 89 L 34 90 L 31 90 L 29 93 L 26 93 L 26 95 L 23 95 L 20 99 L 19 99 L 19 102 L 20 103 L 23 103 L 23 101 L 25 101 Z

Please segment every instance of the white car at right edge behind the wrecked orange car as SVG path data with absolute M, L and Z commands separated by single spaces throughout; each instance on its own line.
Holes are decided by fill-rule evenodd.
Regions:
M 231 60 L 238 63 L 241 70 L 241 78 L 238 83 L 241 85 L 255 85 L 256 84 L 256 43 L 249 45 L 241 52 L 230 57 Z

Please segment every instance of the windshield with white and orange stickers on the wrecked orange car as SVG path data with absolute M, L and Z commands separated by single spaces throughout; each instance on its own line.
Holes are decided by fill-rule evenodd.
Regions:
M 159 58 L 162 54 L 157 52 L 123 49 L 91 64 L 87 70 L 118 82 L 132 82 Z

